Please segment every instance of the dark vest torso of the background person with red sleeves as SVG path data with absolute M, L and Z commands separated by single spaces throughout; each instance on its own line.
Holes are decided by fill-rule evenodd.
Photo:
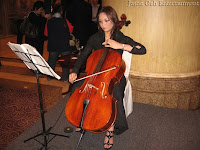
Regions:
M 70 33 L 65 19 L 52 17 L 47 22 L 47 28 L 49 52 L 71 51 L 69 45 Z

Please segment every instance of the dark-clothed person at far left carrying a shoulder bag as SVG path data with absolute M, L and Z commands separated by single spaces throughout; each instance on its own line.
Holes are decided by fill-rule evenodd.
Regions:
M 43 55 L 43 46 L 44 46 L 44 27 L 47 19 L 44 17 L 44 3 L 42 1 L 36 1 L 33 5 L 32 11 L 29 13 L 28 18 L 32 24 L 35 24 L 38 27 L 39 35 L 36 38 L 25 38 L 25 43 L 30 44 L 35 47 L 40 55 Z

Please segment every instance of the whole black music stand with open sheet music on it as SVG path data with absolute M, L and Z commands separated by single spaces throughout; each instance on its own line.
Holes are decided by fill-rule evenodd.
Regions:
M 42 144 L 42 147 L 40 149 L 45 148 L 47 150 L 47 144 L 53 140 L 56 136 L 62 136 L 62 137 L 67 137 L 69 136 L 66 135 L 61 135 L 61 134 L 56 134 L 50 132 L 52 127 L 50 127 L 48 130 L 46 130 L 45 126 L 45 118 L 44 118 L 44 113 L 45 110 L 43 108 L 43 103 L 42 103 L 42 92 L 40 89 L 40 83 L 39 83 L 39 76 L 40 73 L 52 76 L 54 78 L 60 79 L 60 76 L 58 76 L 53 69 L 48 65 L 48 63 L 44 60 L 44 58 L 38 53 L 38 51 L 30 46 L 29 44 L 14 44 L 8 42 L 8 46 L 13 50 L 13 52 L 26 64 L 26 66 L 33 70 L 36 75 L 37 79 L 37 87 L 38 87 L 38 96 L 39 96 L 39 103 L 40 103 L 40 114 L 41 114 L 41 119 L 42 119 L 42 132 L 27 139 L 24 140 L 24 143 L 29 141 L 29 140 L 36 140 L 38 143 Z M 47 140 L 48 135 L 54 135 L 51 139 Z M 44 137 L 44 143 L 41 143 L 37 139 L 35 139 L 38 136 L 43 136 Z

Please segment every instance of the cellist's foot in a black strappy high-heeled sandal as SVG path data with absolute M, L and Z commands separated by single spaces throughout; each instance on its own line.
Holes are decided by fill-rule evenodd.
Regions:
M 111 149 L 113 146 L 114 126 L 112 126 L 107 132 L 104 139 L 104 149 Z

